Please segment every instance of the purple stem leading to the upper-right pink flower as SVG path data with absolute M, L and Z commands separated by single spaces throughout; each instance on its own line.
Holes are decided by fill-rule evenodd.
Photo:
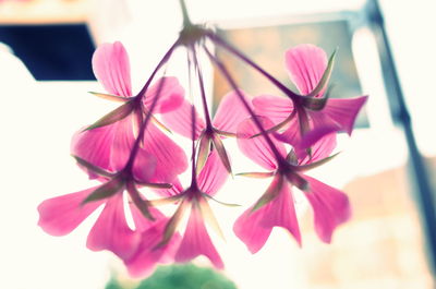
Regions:
M 264 75 L 268 81 L 270 81 L 274 85 L 276 85 L 281 92 L 283 92 L 289 98 L 291 98 L 293 101 L 296 101 L 298 98 L 300 97 L 299 94 L 295 94 L 291 89 L 289 89 L 287 86 L 284 86 L 281 82 L 279 82 L 276 77 L 274 77 L 271 74 L 269 74 L 267 71 L 265 71 L 263 68 L 261 68 L 258 64 L 256 64 L 253 60 L 247 58 L 245 55 L 243 55 L 241 51 L 239 51 L 237 48 L 232 47 L 228 43 L 226 43 L 221 37 L 216 35 L 213 32 L 207 32 L 207 37 L 214 41 L 216 45 L 221 46 L 229 52 L 233 53 L 237 56 L 239 59 L 247 63 L 250 67 L 258 71 L 262 75 Z

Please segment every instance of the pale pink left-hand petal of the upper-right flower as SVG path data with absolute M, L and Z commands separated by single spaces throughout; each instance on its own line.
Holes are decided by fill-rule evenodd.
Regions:
M 267 117 L 275 124 L 282 122 L 293 110 L 291 99 L 271 95 L 262 95 L 253 98 L 253 105 L 256 115 Z

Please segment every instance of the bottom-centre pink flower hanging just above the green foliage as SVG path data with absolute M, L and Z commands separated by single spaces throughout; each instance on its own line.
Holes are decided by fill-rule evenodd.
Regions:
M 207 233 L 204 218 L 209 220 L 210 225 L 219 230 L 207 200 L 216 194 L 219 188 L 226 182 L 227 177 L 227 170 L 219 160 L 217 152 L 213 150 L 197 177 L 198 184 L 193 183 L 189 189 L 183 191 L 180 183 L 175 182 L 169 190 L 159 190 L 161 195 L 170 196 L 169 201 L 179 202 L 178 209 L 166 224 L 159 225 L 159 229 L 154 231 L 152 237 L 147 236 L 143 238 L 140 245 L 141 250 L 125 262 L 129 272 L 134 276 L 142 276 L 149 273 L 150 268 L 154 267 L 154 264 L 149 262 L 150 258 L 153 260 L 153 255 L 162 246 L 168 245 L 171 248 L 169 251 L 173 252 L 173 260 L 175 262 L 189 262 L 198 255 L 204 255 L 216 268 L 222 268 L 222 260 Z M 175 231 L 180 220 L 189 209 L 191 210 L 190 217 L 180 240 Z M 171 260 L 171 256 L 168 254 L 167 258 Z

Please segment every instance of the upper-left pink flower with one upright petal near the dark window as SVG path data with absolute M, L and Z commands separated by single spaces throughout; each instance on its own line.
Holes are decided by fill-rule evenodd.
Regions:
M 159 86 L 160 95 L 155 111 L 160 113 L 178 108 L 183 103 L 184 91 L 175 77 L 164 77 L 145 92 L 142 106 L 133 107 L 131 104 L 135 97 L 132 96 L 129 56 L 119 41 L 97 48 L 93 56 L 93 69 L 97 80 L 109 93 L 97 95 L 124 103 L 125 111 L 120 109 L 117 121 L 112 123 L 77 132 L 71 150 L 74 156 L 97 167 L 118 171 L 130 157 L 135 142 L 135 124 L 148 113 Z M 148 179 L 152 182 L 171 182 L 187 168 L 184 152 L 153 123 L 147 124 L 144 146 L 140 148 L 138 155 L 149 160 L 146 167 L 155 167 L 155 176 Z M 90 172 L 90 177 L 96 176 Z

